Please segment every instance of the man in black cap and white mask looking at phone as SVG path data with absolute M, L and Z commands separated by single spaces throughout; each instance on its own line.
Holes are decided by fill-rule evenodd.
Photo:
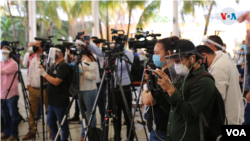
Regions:
M 174 79 L 163 71 L 156 70 L 155 73 L 161 77 L 158 79 L 158 84 L 162 90 L 151 91 L 157 104 L 169 113 L 165 140 L 200 141 L 202 136 L 200 136 L 199 115 L 203 112 L 208 123 L 210 122 L 215 101 L 214 81 L 212 78 L 204 76 L 188 91 L 190 82 L 197 75 L 206 72 L 204 67 L 198 63 L 198 60 L 203 57 L 196 51 L 194 44 L 188 40 L 175 41 L 171 45 L 170 52 L 171 55 L 167 57 L 172 59 L 172 63 L 167 60 L 168 68 L 171 71 L 170 74 L 173 76 L 176 74 L 178 77 Z M 169 65 L 174 65 L 174 67 Z M 168 110 L 169 104 L 171 105 L 170 110 Z

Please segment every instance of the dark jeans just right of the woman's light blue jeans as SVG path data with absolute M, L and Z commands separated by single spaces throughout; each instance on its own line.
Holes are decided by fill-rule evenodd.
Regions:
M 97 84 L 98 90 L 99 90 L 99 87 L 100 87 L 100 84 Z M 104 118 L 105 118 L 105 109 L 106 109 L 106 84 L 103 84 L 103 86 L 102 86 L 97 105 L 99 108 L 99 112 L 101 114 L 101 125 L 102 125 Z

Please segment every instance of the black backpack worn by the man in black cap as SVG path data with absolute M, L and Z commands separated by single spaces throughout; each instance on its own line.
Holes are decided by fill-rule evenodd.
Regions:
M 202 77 L 207 76 L 214 80 L 213 76 L 208 72 L 202 72 L 191 80 L 188 84 L 188 93 L 190 93 L 193 85 Z M 224 101 L 218 89 L 215 87 L 215 103 L 212 109 L 211 123 L 208 124 L 204 113 L 199 115 L 200 141 L 204 141 L 203 124 L 206 129 L 206 137 L 209 141 L 216 141 L 222 135 L 222 125 L 227 125 L 226 111 Z

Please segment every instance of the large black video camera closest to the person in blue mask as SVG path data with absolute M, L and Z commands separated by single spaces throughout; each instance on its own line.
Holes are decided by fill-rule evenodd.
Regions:
M 138 48 L 145 48 L 147 53 L 154 54 L 154 46 L 157 42 L 157 36 L 161 36 L 161 34 L 149 34 L 148 31 L 143 32 L 142 28 L 136 29 L 136 35 L 135 38 L 130 38 L 129 43 L 129 49 L 138 49 Z M 148 40 L 147 38 L 151 37 L 152 40 Z

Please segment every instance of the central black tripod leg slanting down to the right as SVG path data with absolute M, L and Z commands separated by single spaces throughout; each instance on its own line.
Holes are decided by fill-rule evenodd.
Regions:
M 121 81 L 120 81 L 120 78 L 119 78 L 119 76 L 118 76 L 117 67 L 114 66 L 114 68 L 115 68 L 115 75 L 116 75 L 116 78 L 117 78 L 117 82 L 118 82 L 118 84 L 119 84 L 119 88 L 120 88 L 120 91 L 121 91 L 123 103 L 124 103 L 124 106 L 125 106 L 125 108 L 126 108 L 126 113 L 127 113 L 127 115 L 128 115 L 128 118 L 129 118 L 129 123 L 131 123 L 131 122 L 132 122 L 132 119 L 131 119 L 132 114 L 131 114 L 131 112 L 130 112 L 130 110 L 129 110 L 128 103 L 127 103 L 127 100 L 126 100 L 126 97 L 125 97 L 125 94 L 124 94 L 124 90 L 123 90 L 122 85 L 121 85 L 121 83 L 120 83 Z M 134 127 L 134 126 L 131 126 L 131 128 L 133 128 L 133 127 Z M 134 135 L 135 135 L 136 140 L 138 141 L 138 137 L 137 137 L 137 135 L 136 135 L 135 128 L 133 128 L 133 132 L 134 132 Z M 129 139 L 128 139 L 128 140 L 129 140 Z

